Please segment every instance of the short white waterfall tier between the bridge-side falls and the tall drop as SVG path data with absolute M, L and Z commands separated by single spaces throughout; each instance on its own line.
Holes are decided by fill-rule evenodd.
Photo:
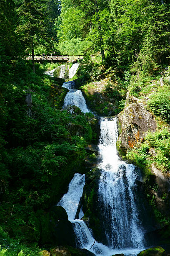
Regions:
M 65 96 L 63 108 L 67 105 L 75 105 L 80 108 L 83 113 L 89 112 L 85 98 L 82 96 L 82 92 L 80 90 L 72 90 L 72 81 L 65 82 L 63 87 L 70 90 L 70 92 L 67 92 L 67 95 Z

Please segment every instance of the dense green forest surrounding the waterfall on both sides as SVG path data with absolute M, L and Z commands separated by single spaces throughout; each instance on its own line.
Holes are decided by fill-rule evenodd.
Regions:
M 128 104 L 147 98 L 158 129 L 129 139 L 127 148 L 121 137 L 117 149 L 145 177 L 153 164 L 170 175 L 169 0 L 1 0 L 0 256 L 45 256 L 43 250 L 63 245 L 62 228 L 53 236 L 54 205 L 96 157 L 86 148 L 97 144 L 97 117 L 61 111 L 67 90 L 44 73 L 60 64 L 22 58 L 43 53 L 84 55 L 74 79 L 95 115 L 125 114 Z M 159 185 L 150 186 L 146 182 L 146 201 L 159 229 L 166 227 L 160 232 L 169 233 L 169 191 L 161 192 L 161 212 L 154 195 Z M 87 197 L 92 212 L 93 194 Z M 71 255 L 85 255 L 78 253 Z

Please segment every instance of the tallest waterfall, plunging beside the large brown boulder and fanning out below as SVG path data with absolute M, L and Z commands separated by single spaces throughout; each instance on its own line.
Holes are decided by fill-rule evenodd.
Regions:
M 120 161 L 116 153 L 116 118 L 102 118 L 100 124 L 100 154 L 102 172 L 99 203 L 105 237 L 112 248 L 143 248 L 144 233 L 138 220 L 135 203 L 135 166 Z

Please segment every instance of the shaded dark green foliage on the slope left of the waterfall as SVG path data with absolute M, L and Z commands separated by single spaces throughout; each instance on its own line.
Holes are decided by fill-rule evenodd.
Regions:
M 7 256 L 38 255 L 39 249 L 30 248 L 42 239 L 37 212 L 47 211 L 60 199 L 75 170 L 84 172 L 85 146 L 95 136 L 89 123 L 92 114 L 73 116 L 55 107 L 54 81 L 43 74 L 45 68 L 36 64 L 34 74 L 29 63 L 13 61 L 0 84 L 0 223 L 15 237 L 6 244 Z M 25 102 L 27 93 L 32 94 L 30 107 Z M 68 123 L 81 126 L 81 135 L 75 136 Z M 3 246 L 5 236 L 0 241 Z M 23 242 L 30 246 L 21 246 Z

